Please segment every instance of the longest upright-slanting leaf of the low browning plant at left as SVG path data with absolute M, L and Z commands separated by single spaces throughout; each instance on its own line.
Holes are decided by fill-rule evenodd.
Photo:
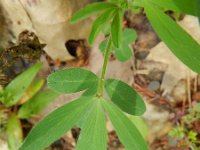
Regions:
M 4 97 L 7 98 L 4 102 L 7 107 L 15 105 L 20 100 L 40 68 L 41 64 L 36 64 L 17 76 L 8 84 L 3 93 Z

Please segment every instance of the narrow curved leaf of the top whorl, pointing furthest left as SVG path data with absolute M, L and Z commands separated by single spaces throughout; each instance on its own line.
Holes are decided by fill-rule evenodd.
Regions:
M 117 5 L 110 2 L 96 2 L 89 4 L 72 16 L 71 23 L 76 23 L 91 15 L 106 11 L 107 9 L 115 9 L 116 7 Z

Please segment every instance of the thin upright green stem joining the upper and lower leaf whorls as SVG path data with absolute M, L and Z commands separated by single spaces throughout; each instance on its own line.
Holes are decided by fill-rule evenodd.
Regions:
M 107 46 L 106 46 L 106 51 L 105 51 L 105 54 L 104 54 L 104 62 L 103 62 L 103 68 L 102 68 L 102 72 L 101 72 L 101 79 L 99 81 L 99 86 L 98 86 L 98 91 L 97 91 L 98 97 L 103 96 L 103 86 L 104 86 L 104 80 L 105 80 L 105 74 L 106 74 L 108 59 L 109 59 L 109 56 L 110 56 L 111 44 L 112 44 L 112 39 L 111 39 L 111 35 L 110 35 L 109 39 L 108 39 Z

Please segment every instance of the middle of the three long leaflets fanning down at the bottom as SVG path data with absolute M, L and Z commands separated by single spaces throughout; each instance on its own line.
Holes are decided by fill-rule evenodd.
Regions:
M 98 98 L 93 100 L 95 103 L 89 116 L 84 120 L 76 150 L 106 150 L 107 148 L 106 121 L 101 100 Z

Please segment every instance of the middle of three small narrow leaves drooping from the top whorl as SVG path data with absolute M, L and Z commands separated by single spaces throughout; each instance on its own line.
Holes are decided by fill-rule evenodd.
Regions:
M 89 43 L 93 44 L 94 40 L 103 29 L 105 24 L 112 19 L 116 12 L 116 9 L 109 9 L 105 13 L 103 13 L 100 17 L 98 17 L 92 25 L 92 30 L 89 36 Z

